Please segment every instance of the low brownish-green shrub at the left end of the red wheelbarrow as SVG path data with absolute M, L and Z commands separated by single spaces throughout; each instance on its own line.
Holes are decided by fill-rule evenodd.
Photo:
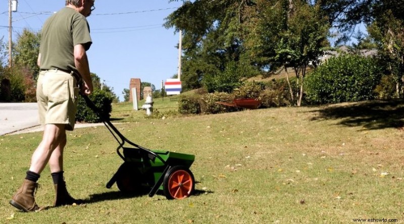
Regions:
M 233 103 L 233 96 L 226 92 L 208 93 L 202 97 L 200 109 L 203 114 L 220 114 L 241 110 L 234 106 L 226 106 L 216 102 Z

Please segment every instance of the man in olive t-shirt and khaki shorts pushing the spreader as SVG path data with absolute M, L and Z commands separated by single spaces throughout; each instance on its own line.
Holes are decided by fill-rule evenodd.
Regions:
M 41 208 L 35 202 L 36 183 L 49 162 L 55 184 L 54 206 L 80 204 L 70 196 L 63 178 L 63 149 L 66 130 L 73 130 L 77 110 L 78 83 L 89 95 L 92 81 L 86 50 L 91 45 L 86 20 L 95 0 L 66 0 L 66 7 L 46 20 L 38 55 L 40 73 L 37 82 L 39 122 L 44 124 L 42 141 L 34 151 L 27 176 L 10 204 L 23 211 Z

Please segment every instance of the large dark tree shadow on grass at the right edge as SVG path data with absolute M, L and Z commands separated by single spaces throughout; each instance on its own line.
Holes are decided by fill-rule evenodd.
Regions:
M 338 124 L 349 127 L 363 126 L 367 129 L 404 127 L 404 100 L 366 101 L 349 105 L 331 105 L 315 110 L 319 116 L 312 120 L 342 119 Z

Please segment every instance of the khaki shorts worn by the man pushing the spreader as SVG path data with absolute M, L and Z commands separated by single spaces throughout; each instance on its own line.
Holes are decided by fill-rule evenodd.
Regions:
M 60 70 L 41 71 L 36 87 L 39 123 L 66 124 L 65 129 L 72 131 L 78 93 L 77 81 L 71 74 Z

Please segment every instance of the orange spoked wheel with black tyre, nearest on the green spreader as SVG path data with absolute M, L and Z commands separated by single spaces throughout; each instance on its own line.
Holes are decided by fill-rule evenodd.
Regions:
M 167 199 L 183 199 L 195 190 L 192 172 L 183 166 L 174 166 L 164 178 L 164 194 Z

